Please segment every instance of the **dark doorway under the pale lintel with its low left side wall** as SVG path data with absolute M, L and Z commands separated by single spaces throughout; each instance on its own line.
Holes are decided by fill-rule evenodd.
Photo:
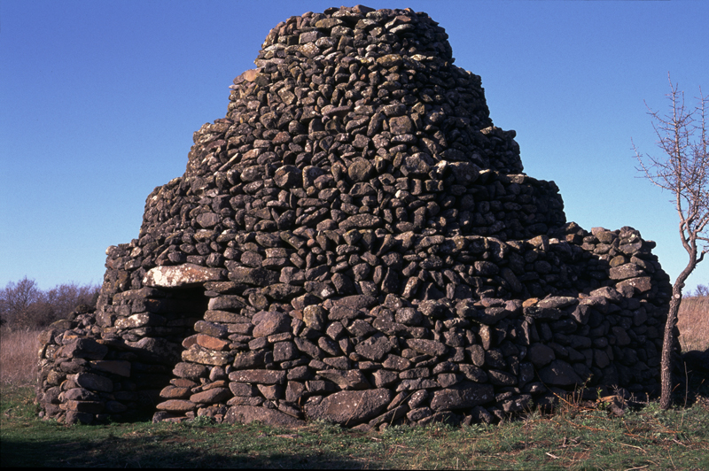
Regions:
M 41 415 L 66 411 L 70 422 L 86 423 L 154 413 L 208 299 L 201 287 L 144 288 L 124 291 L 113 303 L 99 313 L 84 306 L 40 334 L 38 392 L 47 404 Z

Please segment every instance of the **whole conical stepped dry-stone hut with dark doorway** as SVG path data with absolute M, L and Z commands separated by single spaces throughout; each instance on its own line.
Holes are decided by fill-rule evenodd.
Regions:
M 447 38 L 363 6 L 271 30 L 96 310 L 40 336 L 43 415 L 377 429 L 656 390 L 655 243 L 566 222 Z

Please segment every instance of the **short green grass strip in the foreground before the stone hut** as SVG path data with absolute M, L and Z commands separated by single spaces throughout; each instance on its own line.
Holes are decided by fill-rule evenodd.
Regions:
M 701 381 L 691 392 L 690 405 L 661 411 L 651 402 L 620 418 L 570 404 L 500 426 L 363 433 L 322 422 L 301 429 L 202 420 L 67 427 L 36 418 L 31 388 L 5 387 L 0 466 L 707 469 L 709 395 Z

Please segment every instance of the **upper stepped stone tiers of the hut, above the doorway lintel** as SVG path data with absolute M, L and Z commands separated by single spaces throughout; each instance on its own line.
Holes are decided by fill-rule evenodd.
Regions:
M 226 118 L 194 136 L 183 178 L 148 199 L 141 235 L 381 228 L 506 240 L 561 226 L 556 186 L 520 174 L 514 131 L 492 125 L 479 76 L 453 65 L 443 28 L 425 13 L 367 10 L 274 28 L 258 67 L 234 81 Z

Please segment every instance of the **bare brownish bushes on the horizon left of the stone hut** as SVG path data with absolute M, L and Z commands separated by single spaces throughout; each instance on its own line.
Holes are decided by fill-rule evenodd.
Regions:
M 11 329 L 46 327 L 55 320 L 66 319 L 77 305 L 95 306 L 98 290 L 98 285 L 71 282 L 43 291 L 35 280 L 25 276 L 0 290 L 0 324 Z

